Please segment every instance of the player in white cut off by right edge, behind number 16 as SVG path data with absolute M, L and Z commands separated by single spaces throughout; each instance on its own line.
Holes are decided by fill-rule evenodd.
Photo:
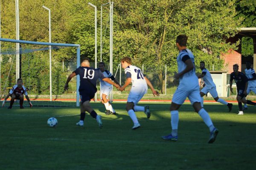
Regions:
M 250 93 L 250 91 L 253 91 L 253 93 L 256 94 L 256 74 L 253 68 L 251 68 L 251 62 L 246 62 L 246 68 L 244 69 L 245 75 L 248 78 L 248 87 L 247 87 L 247 94 Z M 244 104 L 243 111 L 247 109 L 247 105 Z

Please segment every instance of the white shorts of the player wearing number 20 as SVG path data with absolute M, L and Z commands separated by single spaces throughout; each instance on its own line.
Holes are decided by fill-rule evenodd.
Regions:
M 127 102 L 134 102 L 134 105 L 137 105 L 147 91 L 147 88 L 131 88 Z

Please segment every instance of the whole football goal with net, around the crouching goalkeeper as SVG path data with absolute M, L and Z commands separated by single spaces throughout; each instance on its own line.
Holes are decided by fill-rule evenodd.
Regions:
M 1 101 L 17 78 L 22 78 L 33 106 L 79 106 L 79 76 L 70 81 L 68 91 L 64 91 L 64 84 L 68 75 L 80 65 L 80 45 L 3 38 L 0 42 Z M 19 50 L 16 50 L 16 43 L 20 45 Z M 10 98 L 5 107 L 9 107 Z M 25 96 L 23 105 L 29 106 Z M 19 106 L 19 101 L 13 106 Z

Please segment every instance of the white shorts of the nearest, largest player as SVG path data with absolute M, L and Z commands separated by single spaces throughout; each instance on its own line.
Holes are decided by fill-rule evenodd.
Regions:
M 178 105 L 182 105 L 186 97 L 189 98 L 192 105 L 195 102 L 201 102 L 199 86 L 198 88 L 193 88 L 193 89 L 179 88 L 178 86 L 175 93 L 173 94 L 172 102 Z

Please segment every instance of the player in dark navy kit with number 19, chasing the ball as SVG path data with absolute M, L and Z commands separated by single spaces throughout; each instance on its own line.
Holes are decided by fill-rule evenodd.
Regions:
M 102 79 L 105 82 L 108 82 L 111 85 L 114 85 L 116 88 L 119 88 L 120 86 L 116 83 L 112 82 L 111 79 L 104 77 L 101 71 L 91 68 L 90 67 L 90 60 L 88 58 L 85 58 L 81 62 L 81 66 L 77 68 L 75 71 L 73 71 L 72 74 L 70 74 L 69 77 L 67 77 L 67 82 L 64 86 L 64 89 L 68 89 L 68 83 L 70 80 L 75 77 L 76 75 L 80 76 L 80 86 L 79 86 L 79 94 L 81 99 L 81 105 L 80 105 L 80 121 L 76 123 L 77 126 L 84 126 L 84 117 L 85 117 L 85 111 L 89 112 L 90 115 L 95 118 L 99 124 L 99 127 L 102 128 L 102 118 L 100 115 L 97 115 L 97 113 L 91 108 L 90 106 L 90 99 L 93 99 L 94 94 L 97 91 L 96 88 L 96 82 L 97 79 Z

